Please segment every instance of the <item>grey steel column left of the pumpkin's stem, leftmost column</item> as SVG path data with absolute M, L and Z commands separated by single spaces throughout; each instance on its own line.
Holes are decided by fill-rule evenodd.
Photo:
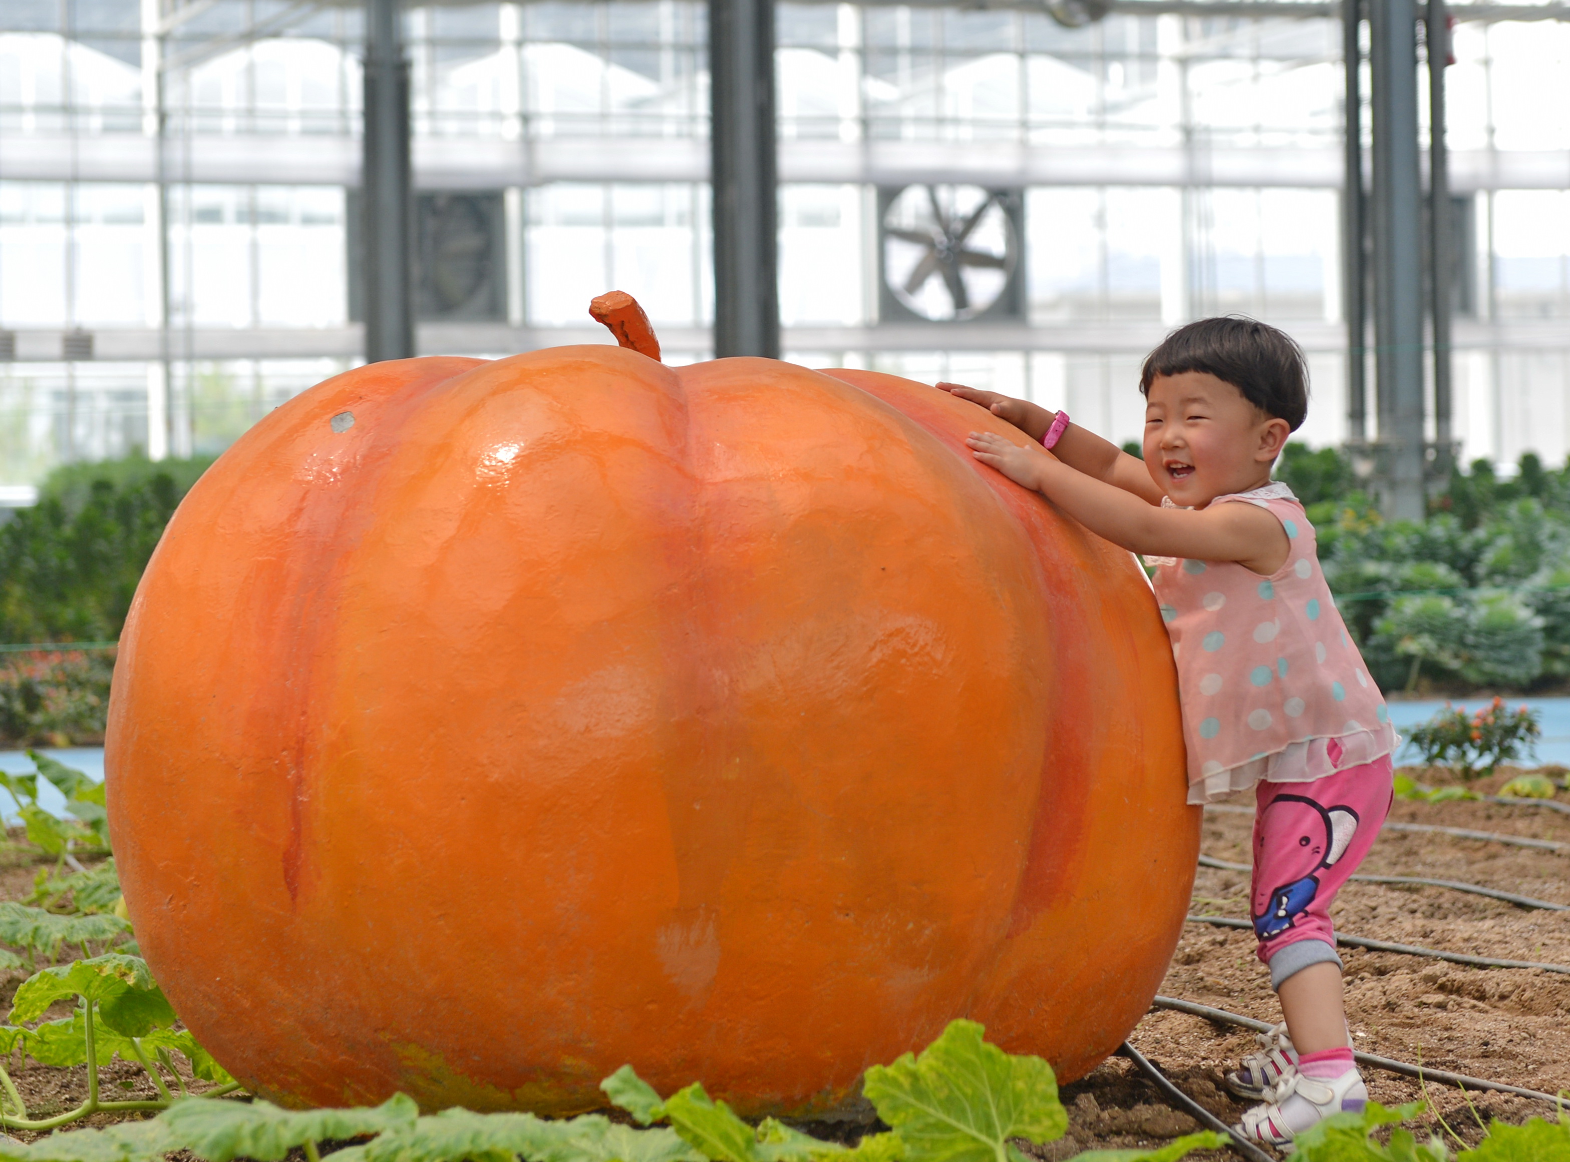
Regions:
M 361 287 L 366 362 L 414 354 L 414 196 L 400 0 L 366 0 Z

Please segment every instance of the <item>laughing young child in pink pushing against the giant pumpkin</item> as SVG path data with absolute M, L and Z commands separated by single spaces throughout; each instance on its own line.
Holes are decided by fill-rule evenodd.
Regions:
M 977 459 L 1143 554 L 1178 662 L 1188 801 L 1254 787 L 1253 921 L 1284 1026 L 1228 1074 L 1276 1146 L 1367 1090 L 1352 1059 L 1330 903 L 1391 803 L 1399 742 L 1347 637 L 1303 505 L 1270 469 L 1308 412 L 1303 353 L 1248 318 L 1204 318 L 1151 351 L 1145 461 L 1024 400 L 939 384 L 1030 434 L 972 433 Z

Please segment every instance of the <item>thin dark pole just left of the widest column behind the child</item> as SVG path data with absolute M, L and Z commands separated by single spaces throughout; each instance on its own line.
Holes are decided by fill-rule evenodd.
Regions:
M 1363 5 L 1341 3 L 1345 63 L 1345 179 L 1341 187 L 1341 265 L 1347 315 L 1347 439 L 1367 439 L 1367 194 L 1363 190 Z

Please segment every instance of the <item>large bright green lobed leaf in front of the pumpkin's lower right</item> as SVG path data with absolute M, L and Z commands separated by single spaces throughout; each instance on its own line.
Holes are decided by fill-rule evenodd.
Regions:
M 1005 1054 L 984 1032 L 950 1021 L 920 1057 L 867 1071 L 862 1093 L 900 1132 L 907 1162 L 1008 1162 L 1010 1138 L 1050 1142 L 1068 1129 L 1052 1066 Z

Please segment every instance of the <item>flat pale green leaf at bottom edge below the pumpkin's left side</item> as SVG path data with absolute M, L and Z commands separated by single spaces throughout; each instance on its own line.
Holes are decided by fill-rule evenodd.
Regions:
M 394 1093 L 380 1106 L 342 1110 L 281 1110 L 267 1101 L 182 1098 L 159 1121 L 173 1143 L 165 1149 L 188 1149 L 207 1162 L 236 1157 L 278 1162 L 306 1142 L 388 1132 L 396 1137 L 397 1131 L 411 1129 L 418 1118 L 414 1099 Z

